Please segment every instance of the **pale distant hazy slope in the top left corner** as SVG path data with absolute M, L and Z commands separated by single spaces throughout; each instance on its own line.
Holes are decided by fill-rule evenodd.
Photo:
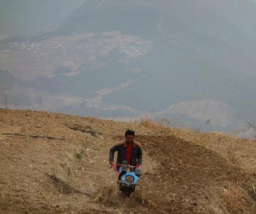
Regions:
M 10 37 L 17 35 L 32 36 L 49 31 L 84 1 L 1 0 L 0 32 Z

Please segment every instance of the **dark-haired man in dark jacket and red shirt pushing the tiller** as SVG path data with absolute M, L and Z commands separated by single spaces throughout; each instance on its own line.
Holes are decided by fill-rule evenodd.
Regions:
M 117 152 L 117 163 L 122 164 L 124 160 L 130 166 L 141 167 L 142 163 L 142 146 L 139 142 L 134 141 L 135 132 L 127 130 L 125 132 L 125 140 L 117 142 L 109 150 L 109 164 L 113 164 L 114 153 Z M 117 167 L 119 170 L 119 167 Z

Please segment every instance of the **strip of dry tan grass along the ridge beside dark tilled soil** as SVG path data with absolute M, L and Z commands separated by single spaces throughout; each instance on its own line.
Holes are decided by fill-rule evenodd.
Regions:
M 137 125 L 152 129 L 155 135 L 175 136 L 186 141 L 192 141 L 204 146 L 224 157 L 230 164 L 236 165 L 246 171 L 256 170 L 256 141 L 230 136 L 221 132 L 199 132 L 188 128 L 170 128 L 171 121 L 151 118 L 143 118 L 135 121 Z

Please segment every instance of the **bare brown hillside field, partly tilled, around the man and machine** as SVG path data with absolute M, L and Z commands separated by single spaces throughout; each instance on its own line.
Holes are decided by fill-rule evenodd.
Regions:
M 127 128 L 142 143 L 143 175 L 125 204 L 108 154 Z M 0 109 L 0 133 L 1 214 L 256 212 L 249 163 L 139 124 Z

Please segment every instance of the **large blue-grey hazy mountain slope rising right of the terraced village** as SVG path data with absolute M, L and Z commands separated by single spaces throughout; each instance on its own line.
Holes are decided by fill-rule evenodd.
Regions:
M 86 1 L 56 33 L 119 30 L 154 40 L 130 62 L 142 72 L 129 89 L 105 103 L 161 111 L 206 97 L 255 120 L 255 24 L 252 1 Z

